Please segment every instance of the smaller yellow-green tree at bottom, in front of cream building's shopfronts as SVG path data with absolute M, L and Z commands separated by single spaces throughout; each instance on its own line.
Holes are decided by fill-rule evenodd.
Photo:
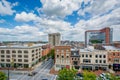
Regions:
M 90 71 L 83 71 L 84 80 L 96 80 L 96 75 Z

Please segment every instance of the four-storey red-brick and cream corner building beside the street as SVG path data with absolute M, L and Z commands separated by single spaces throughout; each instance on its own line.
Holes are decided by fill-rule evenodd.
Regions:
M 55 70 L 71 68 L 71 47 L 55 46 Z

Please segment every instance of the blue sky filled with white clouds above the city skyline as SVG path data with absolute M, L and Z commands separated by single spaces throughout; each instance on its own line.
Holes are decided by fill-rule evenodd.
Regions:
M 0 0 L 0 41 L 84 41 L 86 30 L 113 28 L 120 41 L 120 0 Z

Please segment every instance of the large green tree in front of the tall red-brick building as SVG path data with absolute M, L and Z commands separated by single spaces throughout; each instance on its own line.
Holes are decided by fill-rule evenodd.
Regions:
M 74 80 L 76 77 L 77 70 L 75 69 L 62 69 L 58 73 L 57 80 Z

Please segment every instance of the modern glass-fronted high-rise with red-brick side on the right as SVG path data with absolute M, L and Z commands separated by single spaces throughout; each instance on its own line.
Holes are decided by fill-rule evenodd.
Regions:
M 113 29 L 106 27 L 100 30 L 88 30 L 85 32 L 85 46 L 92 44 L 105 44 L 112 43 Z

